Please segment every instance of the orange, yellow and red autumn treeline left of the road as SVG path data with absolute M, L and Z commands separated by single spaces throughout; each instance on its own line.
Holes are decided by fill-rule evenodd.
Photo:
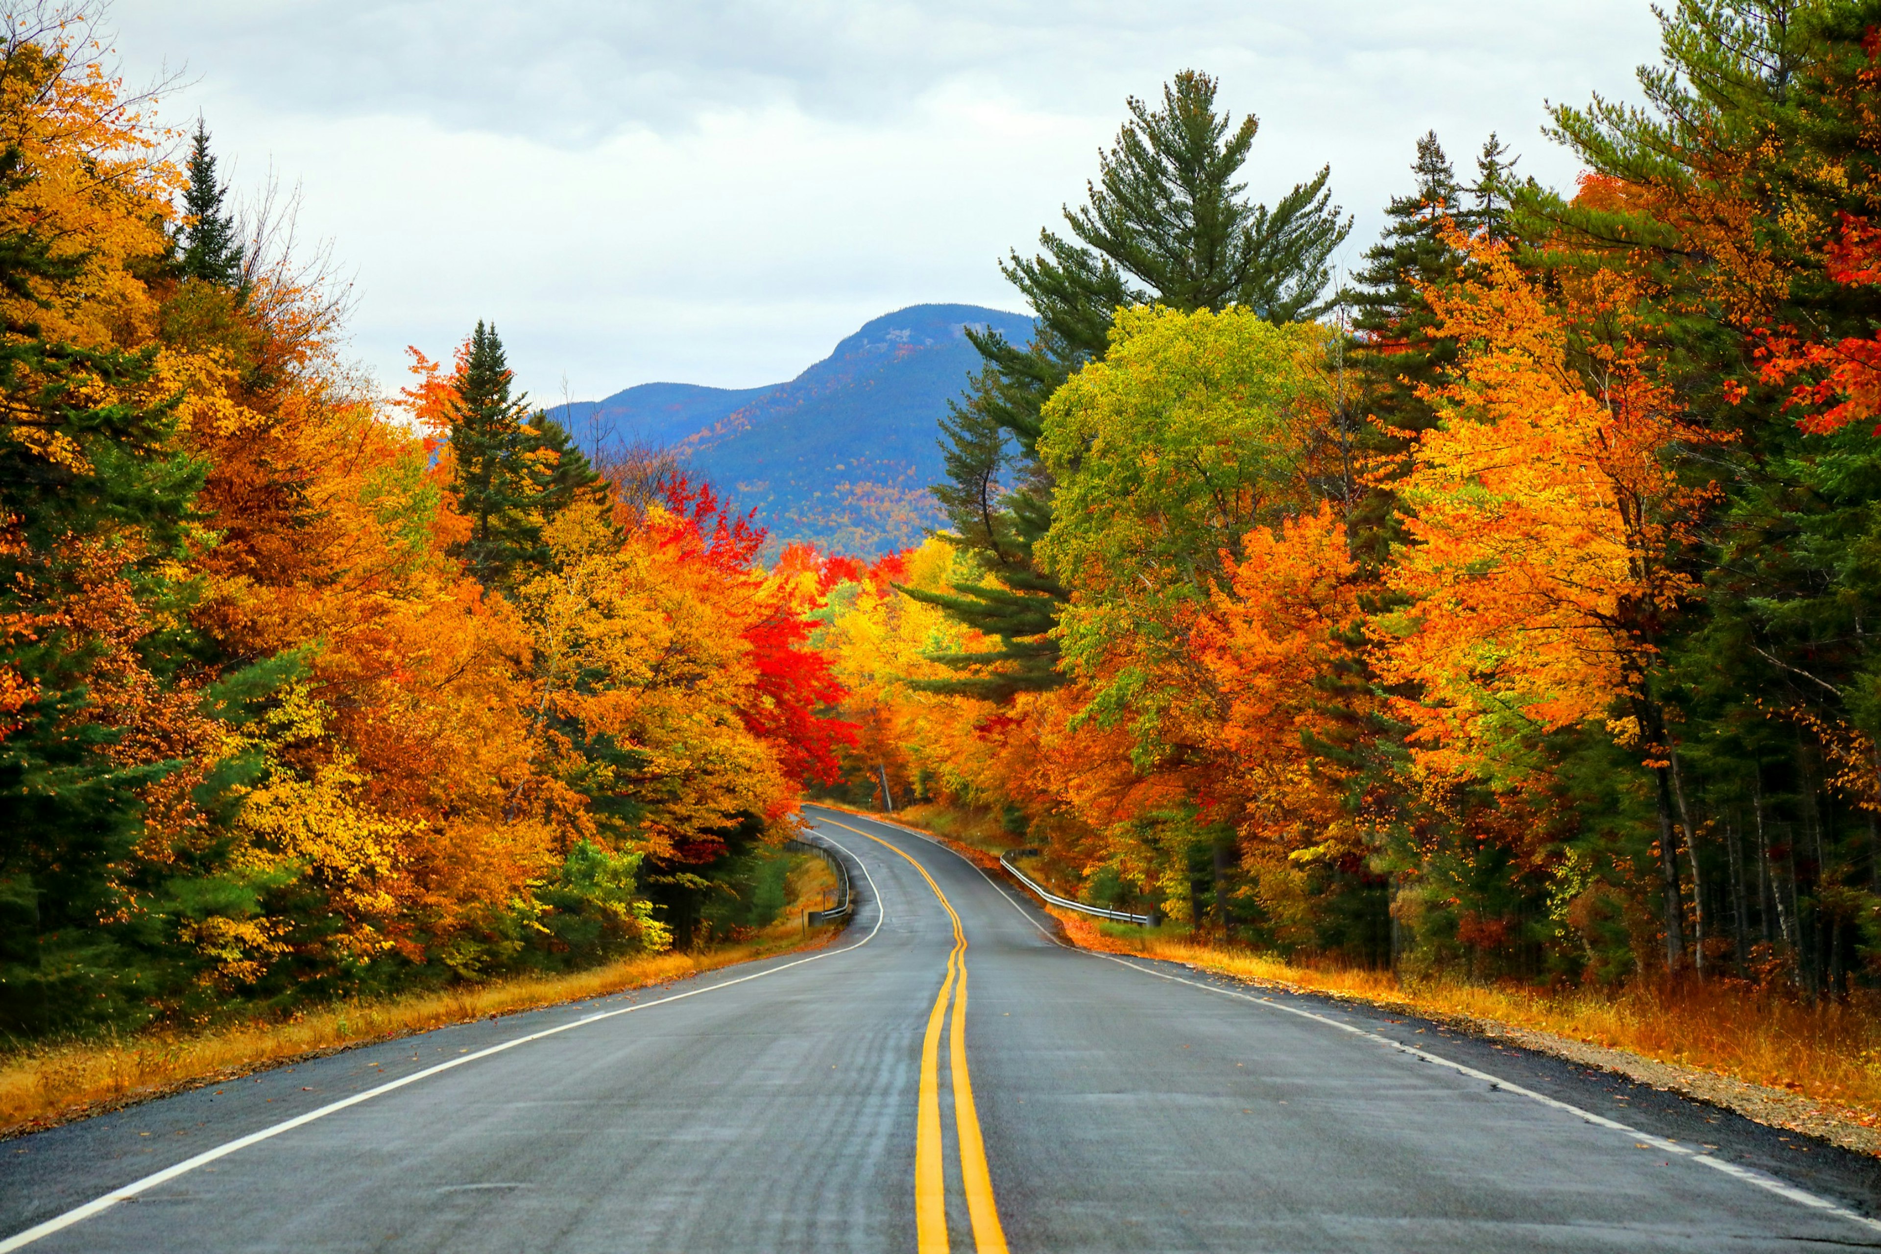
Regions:
M 846 726 L 830 572 L 596 466 L 495 327 L 401 408 L 81 24 L 0 51 L 0 1030 L 692 944 Z

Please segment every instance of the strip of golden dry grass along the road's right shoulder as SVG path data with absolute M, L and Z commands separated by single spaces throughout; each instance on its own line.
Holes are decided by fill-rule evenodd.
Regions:
M 1390 972 L 1288 963 L 1275 955 L 1198 944 L 1168 929 L 1102 923 L 1051 910 L 1087 949 L 1187 963 L 1238 980 L 1369 1002 L 1475 1027 L 1516 1027 L 1604 1049 L 1787 1089 L 1881 1124 L 1881 1002 L 1804 1004 L 1783 991 L 1712 978 L 1636 981 L 1620 989 L 1535 989 L 1452 980 L 1399 981 Z

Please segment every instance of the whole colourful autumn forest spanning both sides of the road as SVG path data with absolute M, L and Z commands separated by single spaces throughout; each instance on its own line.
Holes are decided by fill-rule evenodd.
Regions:
M 1881 976 L 1881 0 L 1683 0 L 1571 190 L 1418 141 L 1352 273 L 1206 73 L 974 337 L 948 528 L 771 541 L 514 389 L 389 389 L 75 28 L 0 51 L 0 1032 L 767 921 L 807 797 L 1405 978 Z M 767 914 L 769 912 L 769 914 Z

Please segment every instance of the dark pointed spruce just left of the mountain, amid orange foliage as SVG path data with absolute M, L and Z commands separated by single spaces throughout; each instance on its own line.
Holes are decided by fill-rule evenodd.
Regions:
M 455 551 L 487 587 L 504 587 L 519 564 L 545 560 L 542 508 L 557 472 L 510 382 L 497 327 L 478 321 L 457 380 L 451 453 L 457 508 L 470 519 L 470 538 Z

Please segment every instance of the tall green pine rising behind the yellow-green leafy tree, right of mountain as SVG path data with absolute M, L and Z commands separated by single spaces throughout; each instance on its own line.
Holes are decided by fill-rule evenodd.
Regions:
M 1249 203 L 1236 182 L 1258 130 L 1215 109 L 1215 79 L 1183 70 L 1162 105 L 1130 100 L 1130 118 L 1099 158 L 1089 201 L 1067 209 L 1072 239 L 1040 231 L 1042 252 L 1001 263 L 1036 320 L 1027 346 L 969 329 L 986 368 L 942 425 L 948 481 L 933 491 L 991 583 L 952 594 L 912 592 L 999 639 L 997 649 L 939 660 L 980 675 L 927 686 L 988 699 L 1051 688 L 1057 641 L 1048 632 L 1067 592 L 1033 560 L 1051 525 L 1051 481 L 1036 444 L 1046 399 L 1070 372 L 1106 352 L 1119 306 L 1221 310 L 1243 305 L 1273 321 L 1324 312 L 1330 258 L 1351 231 L 1326 192 L 1330 169 L 1275 207 Z M 905 588 L 907 590 L 907 588 Z

